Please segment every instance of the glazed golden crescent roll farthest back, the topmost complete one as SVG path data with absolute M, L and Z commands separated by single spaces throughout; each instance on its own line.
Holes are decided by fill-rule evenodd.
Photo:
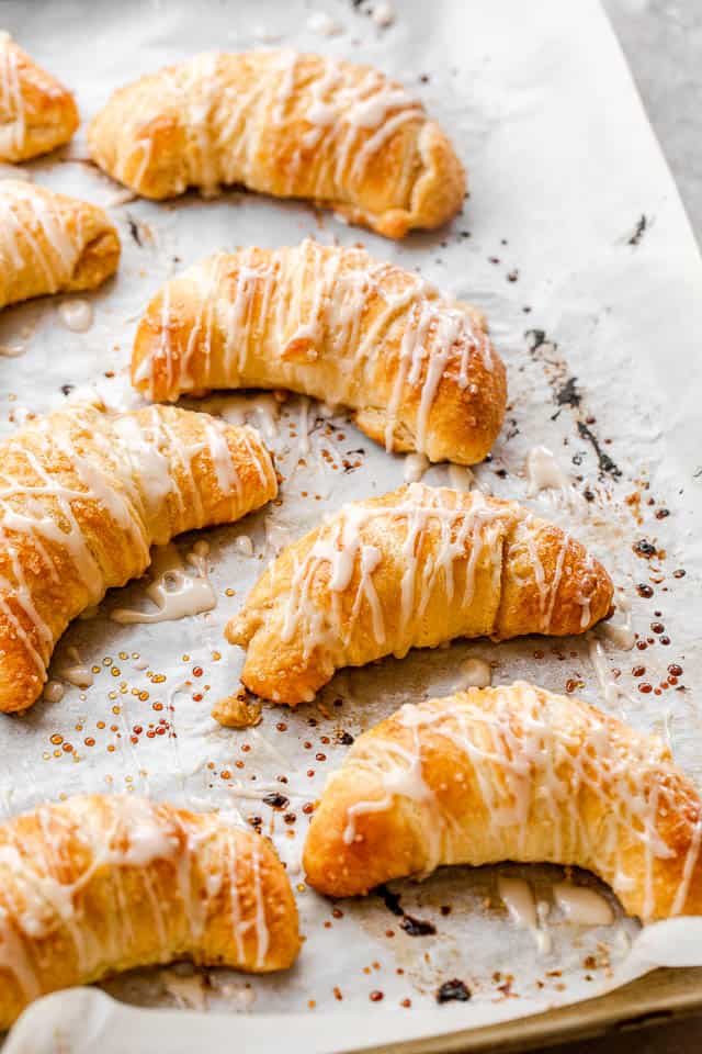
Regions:
M 197 55 L 116 91 L 93 160 L 145 198 L 241 183 L 312 198 L 401 238 L 463 204 L 465 173 L 421 102 L 369 66 L 288 48 Z

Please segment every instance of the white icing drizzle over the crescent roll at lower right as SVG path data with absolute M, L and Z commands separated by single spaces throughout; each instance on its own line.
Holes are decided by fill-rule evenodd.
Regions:
M 467 692 L 416 706 L 406 704 L 396 719 L 411 731 L 411 747 L 383 736 L 356 741 L 349 762 L 363 774 L 364 785 L 380 785 L 380 794 L 370 794 L 347 809 L 344 841 L 359 838 L 359 816 L 389 808 L 395 796 L 407 797 L 420 807 L 427 872 L 440 863 L 497 862 L 502 859 L 499 846 L 514 860 L 589 862 L 610 876 L 615 892 L 641 883 L 641 913 L 648 920 L 655 906 L 656 862 L 676 854 L 658 818 L 677 814 L 682 807 L 680 794 L 686 793 L 670 783 L 670 762 L 663 743 L 656 737 L 633 732 L 623 741 L 586 704 L 540 696 L 523 682 L 496 688 L 489 706 L 482 706 L 480 700 L 479 693 Z M 424 731 L 432 753 L 439 749 L 437 739 L 445 738 L 472 766 L 490 823 L 489 837 L 479 841 L 482 849 L 466 846 L 465 833 L 455 830 L 452 817 L 437 808 L 423 778 Z M 589 825 L 580 812 L 585 794 L 604 806 L 597 825 Z M 546 821 L 552 837 L 544 857 L 541 829 Z M 694 826 L 673 897 L 673 915 L 683 910 L 701 842 L 702 818 Z M 638 848 L 639 854 L 630 873 L 633 848 Z

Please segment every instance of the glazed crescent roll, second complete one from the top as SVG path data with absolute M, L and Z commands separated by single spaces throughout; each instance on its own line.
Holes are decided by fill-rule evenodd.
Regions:
M 132 380 L 157 400 L 287 388 L 354 411 L 388 450 L 480 461 L 505 367 L 483 315 L 361 249 L 305 240 L 219 254 L 168 282 L 137 329 Z

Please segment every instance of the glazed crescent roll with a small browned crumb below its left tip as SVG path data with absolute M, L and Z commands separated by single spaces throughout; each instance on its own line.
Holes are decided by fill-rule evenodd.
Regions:
M 226 636 L 248 649 L 244 685 L 295 706 L 341 666 L 410 648 L 581 632 L 612 594 L 578 541 L 520 505 L 412 483 L 287 546 Z

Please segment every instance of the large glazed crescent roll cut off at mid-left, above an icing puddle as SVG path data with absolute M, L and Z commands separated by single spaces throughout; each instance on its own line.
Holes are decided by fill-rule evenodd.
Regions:
M 54 646 L 149 547 L 276 493 L 257 431 L 206 414 L 71 406 L 0 442 L 0 710 L 37 698 Z

